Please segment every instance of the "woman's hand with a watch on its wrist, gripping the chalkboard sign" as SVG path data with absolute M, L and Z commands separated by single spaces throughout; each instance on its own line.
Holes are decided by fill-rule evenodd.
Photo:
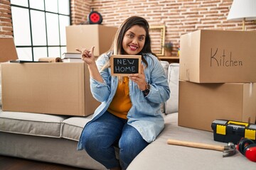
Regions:
M 144 74 L 144 66 L 143 64 L 141 64 L 141 73 L 137 73 L 137 74 L 129 74 L 129 79 L 131 79 L 132 81 L 134 81 L 134 83 L 136 83 L 139 87 L 139 89 L 141 91 L 146 90 L 146 77 Z

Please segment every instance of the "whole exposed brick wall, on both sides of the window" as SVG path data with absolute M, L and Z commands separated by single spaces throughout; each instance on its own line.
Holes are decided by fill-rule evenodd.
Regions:
M 72 25 L 87 21 L 91 8 L 102 14 L 105 26 L 119 26 L 129 16 L 142 16 L 150 25 L 166 26 L 166 42 L 177 47 L 182 34 L 198 29 L 242 30 L 242 21 L 227 21 L 233 0 L 70 0 Z M 0 0 L 0 36 L 11 36 L 9 0 Z M 247 21 L 246 30 L 256 30 Z M 176 48 L 175 48 L 176 50 Z

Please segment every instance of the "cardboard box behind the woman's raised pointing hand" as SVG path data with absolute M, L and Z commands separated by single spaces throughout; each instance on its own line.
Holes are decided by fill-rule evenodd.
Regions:
M 94 55 L 97 57 L 110 50 L 116 27 L 98 24 L 66 27 L 67 52 L 78 52 L 75 49 L 95 46 Z

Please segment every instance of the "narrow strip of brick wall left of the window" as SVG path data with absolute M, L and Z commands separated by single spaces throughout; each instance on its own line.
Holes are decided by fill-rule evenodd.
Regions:
M 0 37 L 12 37 L 11 6 L 9 0 L 0 0 Z

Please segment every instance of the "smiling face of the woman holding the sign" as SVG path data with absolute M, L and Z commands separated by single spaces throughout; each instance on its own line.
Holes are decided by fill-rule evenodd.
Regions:
M 125 55 L 137 55 L 142 51 L 146 39 L 146 30 L 141 26 L 132 26 L 124 33 L 122 47 Z

